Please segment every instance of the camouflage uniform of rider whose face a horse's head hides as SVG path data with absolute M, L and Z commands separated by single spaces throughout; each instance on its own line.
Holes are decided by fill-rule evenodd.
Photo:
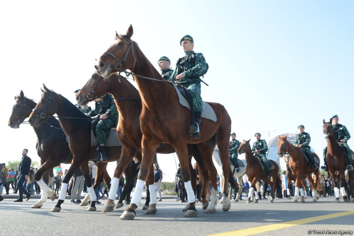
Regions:
M 105 120 L 98 121 L 95 131 L 98 144 L 106 143 L 106 131 L 108 131 L 113 126 L 118 123 L 118 111 L 114 104 L 114 99 L 111 94 L 107 93 L 100 102 L 96 102 L 95 110 L 91 110 L 89 115 L 100 116 L 107 115 L 108 118 Z

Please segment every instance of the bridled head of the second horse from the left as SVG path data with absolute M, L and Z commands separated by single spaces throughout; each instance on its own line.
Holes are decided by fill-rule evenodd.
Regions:
M 57 113 L 59 94 L 49 90 L 44 84 L 41 89 L 41 98 L 29 116 L 28 122 L 33 127 L 38 127 L 42 122 L 47 121 L 52 115 Z

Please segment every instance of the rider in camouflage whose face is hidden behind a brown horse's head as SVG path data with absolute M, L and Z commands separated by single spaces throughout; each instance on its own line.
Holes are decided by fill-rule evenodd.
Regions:
M 114 104 L 114 99 L 109 93 L 107 93 L 102 100 L 96 102 L 95 105 L 95 110 L 91 110 L 87 116 L 98 116 L 101 119 L 95 127 L 97 144 L 100 152 L 96 157 L 96 161 L 107 161 L 105 151 L 106 131 L 109 131 L 110 128 L 117 125 L 118 111 Z

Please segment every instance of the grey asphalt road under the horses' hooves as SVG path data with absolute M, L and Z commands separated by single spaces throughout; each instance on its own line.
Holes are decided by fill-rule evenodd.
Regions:
M 0 202 L 2 226 L 0 235 L 29 235 L 30 233 L 33 236 L 199 236 L 229 232 L 222 235 L 258 233 L 257 235 L 293 236 L 308 235 L 308 230 L 354 230 L 354 203 L 344 203 L 342 199 L 341 203 L 334 203 L 334 197 L 320 198 L 316 203 L 312 202 L 312 198 L 308 198 L 305 203 L 275 199 L 274 203 L 260 200 L 258 204 L 246 204 L 243 200 L 232 202 L 228 212 L 223 212 L 222 205 L 218 204 L 217 212 L 213 214 L 205 213 L 201 203 L 197 203 L 198 216 L 195 218 L 184 217 L 184 212 L 181 210 L 185 203 L 176 202 L 174 199 L 163 199 L 162 202 L 158 202 L 158 213 L 144 215 L 140 205 L 137 216 L 132 221 L 119 220 L 125 207 L 102 213 L 105 201 L 102 201 L 102 205 L 97 205 L 96 212 L 87 212 L 87 207 L 70 205 L 69 200 L 65 200 L 62 211 L 58 213 L 50 212 L 57 200 L 55 202 L 48 200 L 41 209 L 31 209 L 35 201 L 30 199 L 28 202 L 13 202 L 13 199 L 5 199 Z M 340 214 L 332 218 L 319 217 L 332 213 Z M 308 218 L 314 221 L 306 223 Z M 292 220 L 300 221 L 289 223 Z M 258 226 L 262 227 L 257 228 Z M 311 234 L 322 235 L 314 232 Z

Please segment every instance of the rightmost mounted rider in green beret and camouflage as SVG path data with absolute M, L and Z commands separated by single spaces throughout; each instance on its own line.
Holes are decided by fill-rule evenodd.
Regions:
M 331 119 L 333 122 L 333 131 L 334 131 L 336 142 L 340 146 L 343 146 L 344 149 L 346 150 L 346 156 L 348 160 L 347 171 L 353 171 L 353 166 L 351 165 L 353 161 L 352 151 L 350 151 L 350 148 L 347 143 L 348 140 L 350 139 L 349 131 L 347 127 L 338 123 L 339 121 L 338 115 L 333 115 Z M 325 160 L 325 165 L 321 166 L 321 169 L 325 171 L 327 171 L 326 153 L 327 153 L 327 146 L 323 149 L 323 158 Z

